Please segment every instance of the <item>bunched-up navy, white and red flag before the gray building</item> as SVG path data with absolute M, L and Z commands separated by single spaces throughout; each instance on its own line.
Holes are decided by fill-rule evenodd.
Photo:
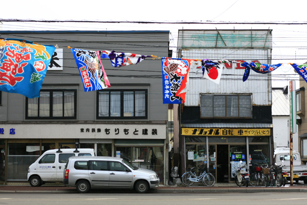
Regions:
M 102 58 L 109 58 L 111 60 L 112 66 L 119 68 L 122 66 L 128 66 L 131 64 L 138 64 L 146 57 L 151 57 L 149 55 L 139 55 L 133 53 L 122 53 L 115 51 L 101 51 Z

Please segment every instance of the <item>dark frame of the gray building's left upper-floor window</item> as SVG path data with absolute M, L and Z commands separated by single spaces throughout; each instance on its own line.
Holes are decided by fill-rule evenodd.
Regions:
M 77 90 L 76 89 L 55 89 L 55 90 L 40 90 L 40 92 L 49 92 L 49 116 L 41 117 L 39 116 L 39 97 L 37 103 L 37 116 L 28 116 L 28 106 L 29 106 L 29 98 L 26 97 L 26 119 L 77 119 Z M 39 92 L 39 93 L 40 93 Z M 74 116 L 64 116 L 64 100 L 62 101 L 62 116 L 61 117 L 53 117 L 53 92 L 62 92 L 63 96 L 65 92 L 74 92 Z

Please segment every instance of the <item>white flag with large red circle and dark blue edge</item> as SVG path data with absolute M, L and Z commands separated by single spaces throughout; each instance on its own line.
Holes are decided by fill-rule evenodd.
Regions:
M 213 81 L 216 84 L 220 84 L 224 64 L 238 63 L 232 60 L 202 60 L 203 77 Z

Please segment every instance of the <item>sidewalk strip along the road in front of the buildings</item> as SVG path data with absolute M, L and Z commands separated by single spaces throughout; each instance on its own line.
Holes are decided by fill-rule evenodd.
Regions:
M 126 192 L 126 190 L 114 189 L 112 192 Z M 62 185 L 43 185 L 41 187 L 31 187 L 30 185 L 2 185 L 0 186 L 0 194 L 2 193 L 77 193 L 74 187 L 64 187 Z M 104 193 L 103 190 L 99 191 Z M 110 192 L 110 190 L 107 190 Z M 183 192 L 241 192 L 241 193 L 257 193 L 257 192 L 307 192 L 307 186 L 290 186 L 286 187 L 237 187 L 235 183 L 215 183 L 213 187 L 204 186 L 159 186 L 156 189 L 149 190 L 149 193 L 183 193 Z

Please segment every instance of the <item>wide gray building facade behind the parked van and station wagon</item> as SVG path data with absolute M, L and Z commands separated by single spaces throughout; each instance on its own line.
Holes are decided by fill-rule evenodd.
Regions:
M 114 68 L 109 59 L 101 59 L 111 87 L 84 92 L 68 47 L 167 57 L 169 31 L 0 34 L 57 46 L 39 98 L 1 92 L 1 183 L 26 181 L 29 165 L 43 152 L 75 148 L 76 143 L 80 148 L 95 149 L 97 156 L 123 157 L 134 166 L 156 171 L 161 184 L 167 181 L 168 116 L 162 101 L 161 60 L 146 58 L 137 65 Z M 132 111 L 104 113 L 105 107 L 123 108 L 127 103 Z

